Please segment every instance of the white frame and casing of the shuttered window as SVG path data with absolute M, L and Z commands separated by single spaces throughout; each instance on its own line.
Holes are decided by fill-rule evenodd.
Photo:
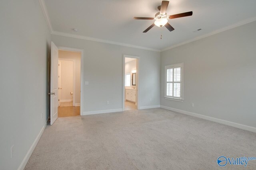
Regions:
M 174 68 L 179 68 L 180 67 L 180 98 L 178 97 L 174 97 L 174 96 L 167 96 L 166 95 L 166 91 L 167 91 L 167 69 L 174 69 Z M 170 64 L 170 65 L 166 65 L 164 66 L 164 98 L 167 100 L 174 100 L 174 101 L 178 101 L 178 102 L 183 102 L 184 98 L 183 98 L 183 72 L 184 72 L 184 63 L 178 63 L 178 64 Z M 173 70 L 174 72 L 174 70 Z M 174 74 L 174 73 L 173 73 Z M 174 78 L 174 77 L 173 77 Z M 172 82 L 174 84 L 174 82 Z M 172 86 L 172 89 L 174 88 L 174 86 Z

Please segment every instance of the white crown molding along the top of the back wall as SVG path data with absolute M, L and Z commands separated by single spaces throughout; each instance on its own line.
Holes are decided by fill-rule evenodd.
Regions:
M 136 48 L 136 49 L 144 49 L 144 50 L 149 50 L 149 51 L 160 52 L 159 49 L 151 49 L 151 48 L 141 47 L 141 46 L 132 45 L 132 44 L 119 43 L 119 42 L 116 42 L 116 41 L 108 41 L 108 40 L 105 40 L 105 39 L 98 39 L 98 38 L 93 38 L 93 37 L 86 37 L 86 36 L 82 36 L 82 35 L 75 35 L 75 34 L 63 33 L 63 32 L 58 32 L 58 31 L 52 31 L 51 34 L 53 34 L 53 35 L 62 35 L 62 36 L 72 37 L 72 38 L 86 39 L 86 40 L 89 40 L 89 41 L 97 41 L 97 42 L 101 42 L 101 43 L 108 43 L 108 44 L 114 44 L 114 45 L 121 45 L 121 46 L 125 46 L 125 47 Z

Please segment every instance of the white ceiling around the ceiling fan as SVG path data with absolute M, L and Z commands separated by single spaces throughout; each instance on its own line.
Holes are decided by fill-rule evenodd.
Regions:
M 152 49 L 166 49 L 238 22 L 256 20 L 256 0 L 171 0 L 167 14 L 193 11 L 192 16 L 169 20 L 175 28 L 154 26 L 161 0 L 45 0 L 52 31 L 70 33 Z M 74 32 L 72 29 L 78 29 Z M 202 29 L 193 32 L 196 29 Z M 162 33 L 162 40 L 160 35 Z

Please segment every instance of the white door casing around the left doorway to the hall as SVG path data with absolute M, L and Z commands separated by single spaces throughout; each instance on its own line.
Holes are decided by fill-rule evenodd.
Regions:
M 75 48 L 70 48 L 70 47 L 61 47 L 57 46 L 59 50 L 63 51 L 74 51 L 74 52 L 80 52 L 81 53 L 81 69 L 80 69 L 80 115 L 83 115 L 83 99 L 84 99 L 84 49 L 75 49 Z M 74 64 L 74 63 L 73 63 Z M 73 67 L 74 68 L 74 67 Z M 73 76 L 74 78 L 74 76 Z M 73 96 L 74 97 L 74 96 Z M 74 101 L 74 98 L 73 98 Z M 73 102 L 74 104 L 74 102 Z

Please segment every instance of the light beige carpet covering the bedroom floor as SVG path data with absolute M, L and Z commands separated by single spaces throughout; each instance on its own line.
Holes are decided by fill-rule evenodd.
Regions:
M 218 166 L 219 156 L 256 156 L 256 133 L 156 108 L 60 117 L 25 169 L 244 169 Z

